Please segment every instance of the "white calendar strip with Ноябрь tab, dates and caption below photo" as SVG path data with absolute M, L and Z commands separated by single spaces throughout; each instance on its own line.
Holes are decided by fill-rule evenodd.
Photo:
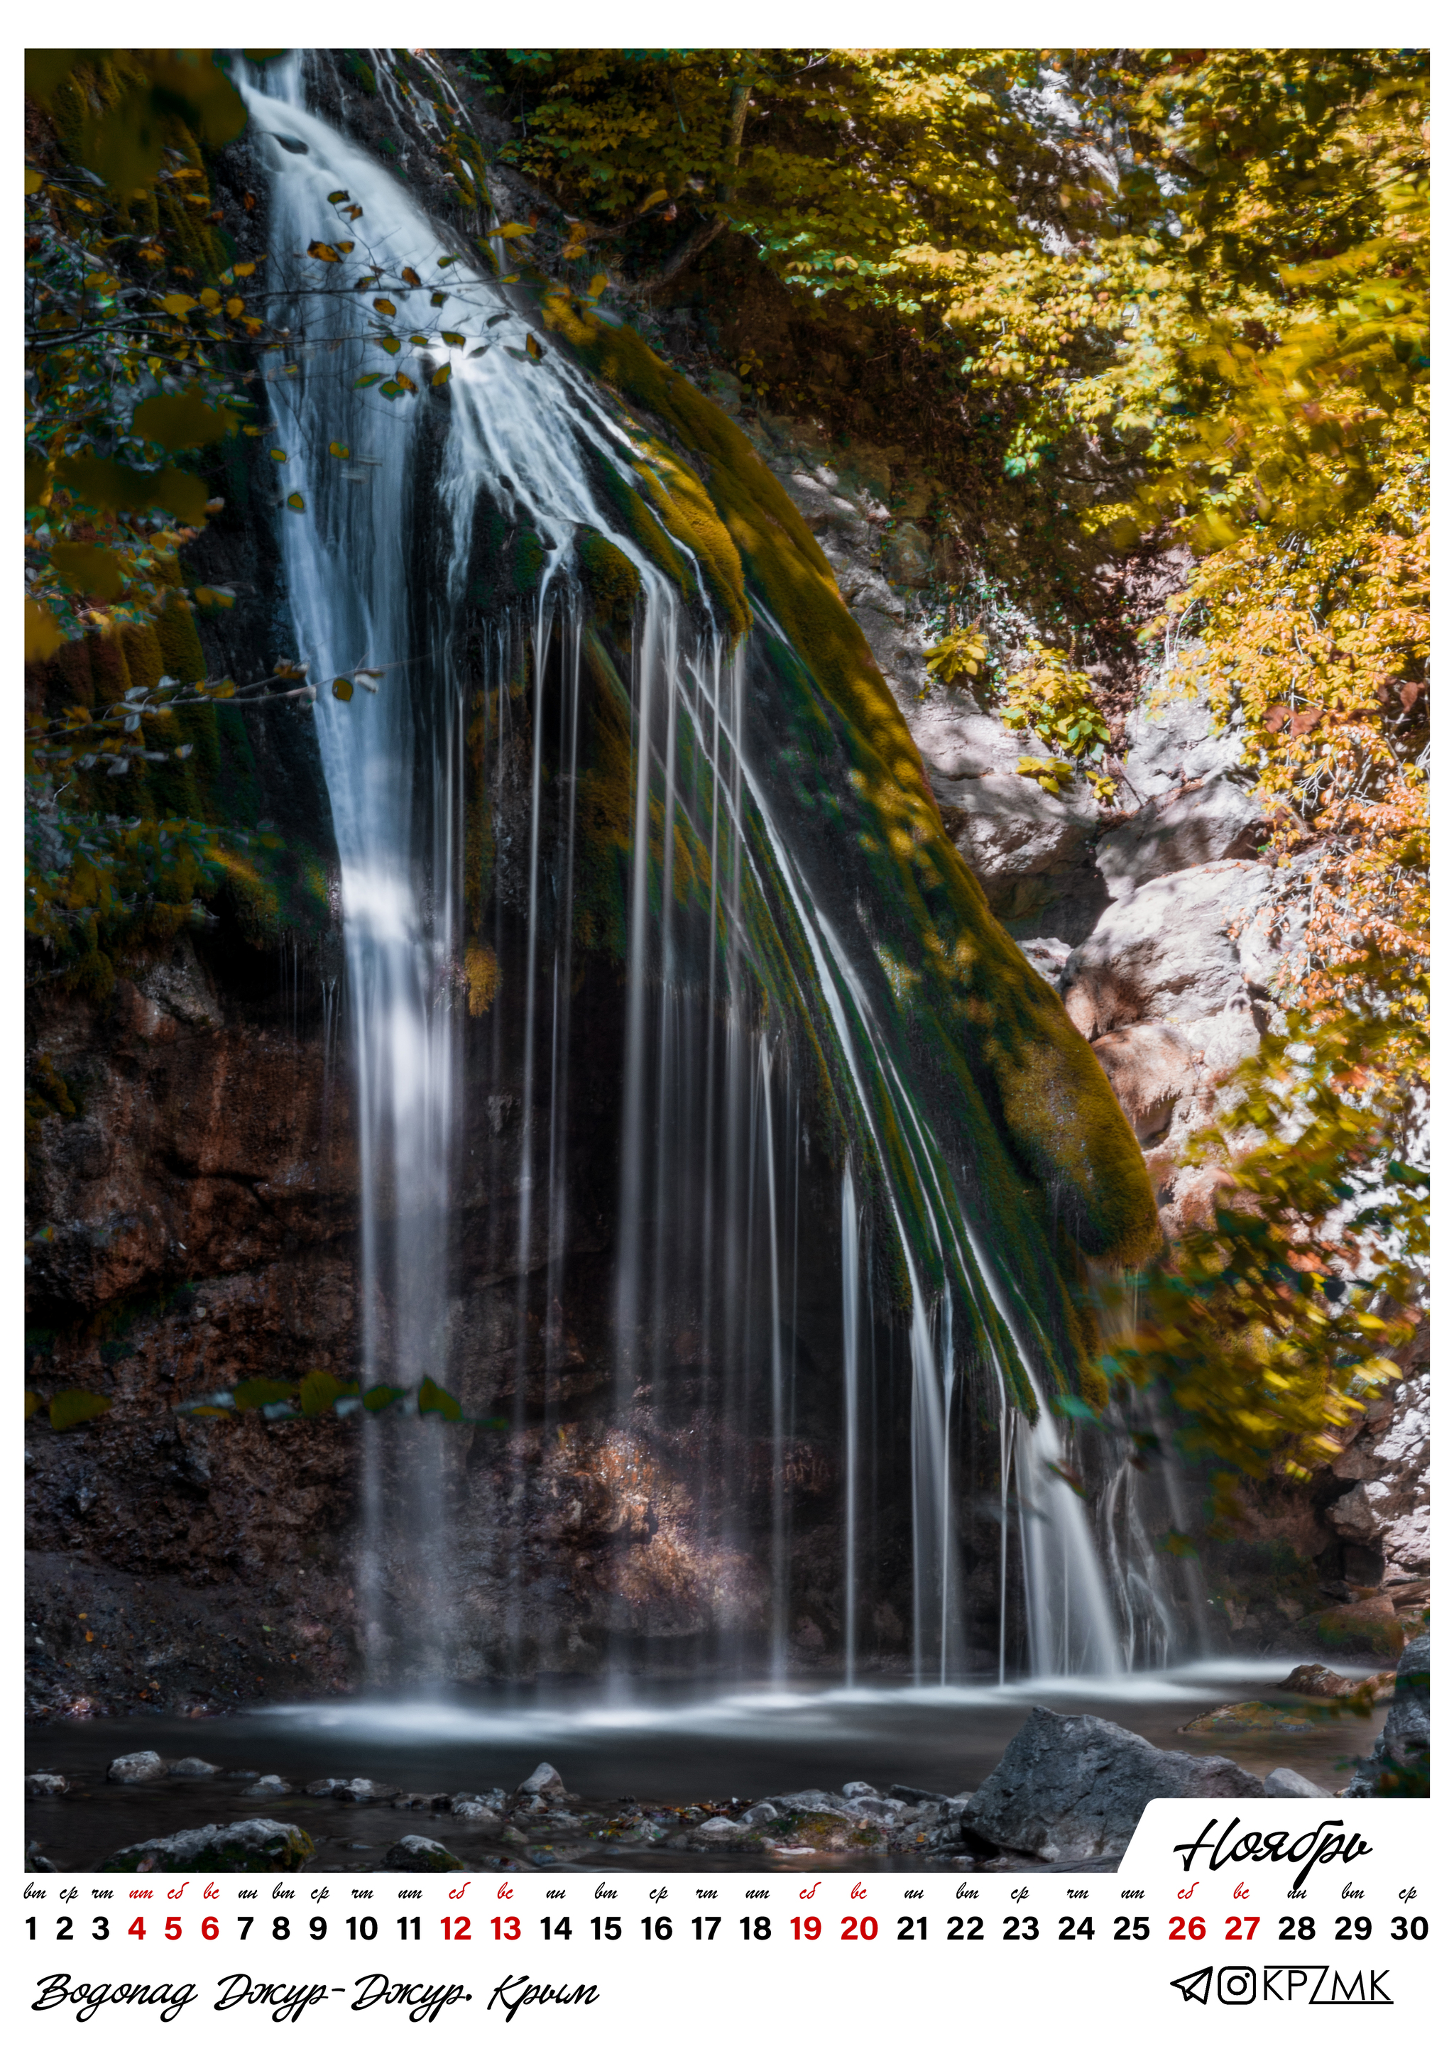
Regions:
M 12 2023 L 121 2050 L 975 2023 L 1273 2048 L 1359 2009 L 1388 2037 L 1431 2017 L 1431 1857 L 1427 1803 L 1156 1799 L 1117 1871 L 58 1873 L 16 1892 Z

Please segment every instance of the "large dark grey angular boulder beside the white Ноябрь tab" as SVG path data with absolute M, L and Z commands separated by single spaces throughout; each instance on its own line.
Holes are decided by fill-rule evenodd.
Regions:
M 1158 1750 L 1090 1713 L 1034 1706 L 973 1795 L 962 1826 L 1047 1863 L 1121 1857 L 1152 1799 L 1255 1799 L 1263 1780 L 1226 1756 Z

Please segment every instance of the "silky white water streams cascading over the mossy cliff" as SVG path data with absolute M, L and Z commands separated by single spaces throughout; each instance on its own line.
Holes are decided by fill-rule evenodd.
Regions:
M 383 74 L 380 74 L 383 76 Z M 553 1421 L 568 1297 L 572 1036 L 578 981 L 582 621 L 572 561 L 582 530 L 603 535 L 640 582 L 629 678 L 631 802 L 623 948 L 623 1081 L 617 1236 L 611 1285 L 613 1462 L 642 1470 L 633 1423 L 691 1447 L 697 1548 L 720 1589 L 742 1581 L 753 1540 L 742 1505 L 767 1474 L 765 1595 L 759 1647 L 777 1682 L 788 1676 L 794 1614 L 794 1534 L 788 1472 L 798 1429 L 800 1170 L 810 1151 L 802 1079 L 784 1020 L 763 1005 L 761 923 L 784 909 L 796 940 L 781 944 L 784 991 L 823 1024 L 843 1123 L 837 1223 L 841 1314 L 841 1639 L 849 1680 L 862 1661 L 860 1587 L 876 1517 L 880 1406 L 874 1334 L 872 1234 L 864 1195 L 876 1188 L 893 1246 L 882 1254 L 907 1295 L 909 1546 L 915 1680 L 965 1667 L 965 1569 L 956 1513 L 962 1367 L 954 1299 L 1008 1336 L 1014 1363 L 989 1353 L 999 1447 L 999 1674 L 1006 1672 L 1008 1542 L 1018 1532 L 1028 1659 L 1034 1672 L 1117 1669 L 1123 1639 L 1106 1593 L 1086 1509 L 1074 1489 L 1061 1429 L 1022 1341 L 1028 1310 L 993 1250 L 965 1217 L 948 1166 L 876 1018 L 853 956 L 796 861 L 786 816 L 751 761 L 744 646 L 703 631 L 603 493 L 601 477 L 633 477 L 631 426 L 559 352 L 526 356 L 531 325 L 506 288 L 469 271 L 407 189 L 383 164 L 308 111 L 302 64 L 284 60 L 247 88 L 259 154 L 271 177 L 276 319 L 296 347 L 267 372 L 284 489 L 304 512 L 280 516 L 298 656 L 315 678 L 356 681 L 348 701 L 323 693 L 317 730 L 341 859 L 348 964 L 346 1018 L 360 1147 L 360 1371 L 366 1384 L 446 1384 L 452 1332 L 463 1129 L 463 1022 L 500 972 L 473 960 L 465 938 L 463 851 L 469 779 L 510 818 L 520 966 L 520 1088 L 514 1127 L 514 1378 L 512 1484 L 526 1493 L 526 1357 L 535 1279 L 545 1281 L 541 1326 L 545 1421 Z M 393 88 L 391 88 L 393 90 Z M 409 109 L 399 103 L 399 119 Z M 358 294 L 311 300 L 300 253 L 333 220 L 331 195 L 362 208 L 358 241 L 374 259 L 424 278 L 446 265 L 450 292 L 485 335 L 471 356 L 450 352 L 448 403 L 393 407 L 358 380 L 376 368 L 376 325 Z M 323 308 L 319 313 L 317 308 Z M 479 317 L 487 317 L 485 329 Z M 442 319 L 442 317 L 440 317 Z M 461 321 L 461 317 L 452 317 Z M 426 360 L 430 362 L 430 360 Z M 426 428 L 428 424 L 428 428 Z M 346 458 L 327 452 L 341 448 Z M 481 508 L 529 522 L 543 570 L 529 615 L 485 635 L 489 676 L 473 674 L 461 623 L 469 609 Z M 434 555 L 428 543 L 434 539 Z M 679 547 L 679 545 L 673 545 Z M 701 600 L 707 588 L 691 557 Z M 781 631 L 761 617 L 755 635 Z M 524 652 L 524 672 L 516 678 Z M 360 670 L 383 670 L 376 693 Z M 469 769 L 469 699 L 483 687 L 485 769 Z M 516 689 L 518 687 L 518 689 Z M 596 687 L 592 687 L 594 691 Z M 516 724 L 529 726 L 529 767 Z M 545 763 L 547 732 L 557 761 Z M 494 767 L 494 769 L 492 769 Z M 547 771 L 553 771 L 547 777 Z M 529 800 L 508 814 L 510 779 Z M 494 783 L 492 783 L 494 779 Z M 500 827 L 502 849 L 506 831 Z M 699 901 L 693 901 L 693 892 Z M 695 909 L 695 911 L 693 911 Z M 786 931 L 784 931 L 786 933 Z M 479 985 L 477 985 L 479 981 Z M 496 1030 L 500 1034 L 502 1030 Z M 504 1108 L 510 1094 L 498 1094 Z M 506 1114 L 502 1110 L 500 1121 Z M 888 1145 L 888 1125 L 897 1149 Z M 895 1166 L 890 1170 L 890 1166 Z M 907 1180 L 907 1184 L 905 1184 Z M 911 1221 L 928 1223 L 925 1248 Z M 821 1256 L 823 1252 L 819 1252 Z M 759 1388 L 765 1400 L 759 1400 Z M 1028 1392 L 1034 1419 L 1016 1412 Z M 685 1394 L 695 1394 L 687 1398 Z M 757 1408 L 757 1412 L 755 1412 Z M 765 1408 L 765 1415 L 763 1415 Z M 749 1427 L 763 1415 L 765 1431 Z M 362 1608 L 380 1665 L 448 1674 L 455 1628 L 440 1567 L 444 1517 L 457 1489 L 440 1421 L 407 1423 L 403 1452 L 385 1470 L 383 1423 L 364 1427 Z M 615 1437 L 615 1439 L 611 1439 Z M 629 1443 L 629 1445 L 627 1445 Z M 1014 1509 L 1010 1499 L 1014 1482 Z M 629 1482 L 629 1480 L 627 1480 Z M 650 1480 L 644 1530 L 658 1519 Z M 1117 1528 L 1121 1548 L 1148 1536 Z M 1119 1561 L 1121 1583 L 1131 1571 Z M 498 1567 L 510 1591 L 512 1647 L 524 1661 L 537 1606 L 526 1565 Z M 1141 1608 L 1141 1614 L 1146 1610 Z M 623 1616 L 625 1618 L 625 1616 Z M 411 1628 L 401 1626 L 411 1622 Z M 619 1630 L 625 1632 L 625 1630 Z M 705 1632 L 705 1630 L 703 1630 Z M 755 1661 L 742 1610 L 712 1624 L 716 1661 Z

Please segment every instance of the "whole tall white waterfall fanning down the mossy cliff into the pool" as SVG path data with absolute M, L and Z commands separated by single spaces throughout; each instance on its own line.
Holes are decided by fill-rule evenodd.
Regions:
M 613 1585 L 590 1593 L 607 1667 L 627 1672 L 644 1645 L 677 1637 L 697 1663 L 786 1682 L 808 1575 L 796 1507 L 827 1489 L 804 1419 L 833 1392 L 843 1554 L 825 1608 L 845 1676 L 864 1669 L 882 1495 L 899 1470 L 913 1678 L 960 1676 L 971 1373 L 993 1398 L 997 1452 L 997 1649 L 981 1661 L 1006 1676 L 1014 1530 L 1030 1667 L 1119 1669 L 1141 1651 L 1125 1647 L 1047 1402 L 1043 1322 L 1014 1260 L 969 1219 L 977 1172 L 925 1110 L 905 1057 L 911 999 L 882 968 L 886 946 L 870 915 L 849 927 L 825 903 L 761 744 L 763 652 L 788 652 L 790 637 L 761 602 L 751 633 L 732 637 L 693 551 L 644 528 L 652 516 L 623 516 L 623 493 L 646 506 L 654 463 L 633 419 L 561 350 L 541 352 L 533 306 L 308 107 L 302 62 L 276 62 L 245 90 L 269 181 L 274 321 L 292 331 L 265 360 L 284 570 L 298 660 L 323 681 L 315 718 L 343 882 L 358 1367 L 366 1386 L 405 1394 L 430 1378 L 469 1398 L 475 1380 L 498 1415 L 469 1429 L 362 1421 L 360 1602 L 378 1674 L 559 1663 L 555 1585 L 510 1538 L 549 1528 L 561 1505 L 584 1521 L 598 1484 L 615 1509 L 601 1556 Z M 399 121 L 436 121 L 393 80 L 387 95 Z M 405 317 L 422 329 L 422 376 L 448 370 L 438 395 L 432 382 L 378 395 L 383 294 L 319 294 L 302 253 L 337 234 L 339 193 L 362 210 L 354 263 L 448 280 L 432 296 L 448 317 L 424 308 L 424 286 Z M 444 319 L 469 329 L 469 352 L 446 341 Z M 586 535 L 635 578 L 623 674 L 588 629 Z M 537 574 L 516 596 L 479 598 L 502 537 L 516 557 L 531 539 Z M 603 829 L 590 750 L 617 713 L 629 769 Z M 605 876 L 611 835 L 625 845 L 619 905 L 596 905 L 586 886 Z M 485 870 L 489 944 L 471 901 L 487 896 Z M 576 1133 L 601 1094 L 582 1049 L 586 958 L 605 960 L 617 927 L 609 1336 L 580 1343 Z M 487 1137 L 487 1176 L 465 1160 L 467 1133 Z M 812 1182 L 825 1162 L 827 1213 Z M 479 1246 L 461 1240 L 465 1207 Z M 508 1295 L 492 1330 L 508 1341 L 487 1349 L 463 1332 L 467 1262 Z M 837 1324 L 841 1386 L 800 1332 L 804 1293 Z M 584 1412 L 572 1380 L 609 1404 Z M 465 1505 L 485 1540 L 467 1575 L 446 1573 Z M 1150 1548 L 1131 1528 L 1115 1530 L 1121 1585 L 1125 1552 L 1139 1563 Z M 508 1622 L 473 1672 L 461 1672 L 465 1604 Z M 810 1616 L 804 1632 L 823 1635 Z M 582 1643 L 576 1626 L 570 1637 Z

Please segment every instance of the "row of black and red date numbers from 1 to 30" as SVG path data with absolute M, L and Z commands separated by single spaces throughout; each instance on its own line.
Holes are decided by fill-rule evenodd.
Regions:
M 993 1918 L 987 1914 L 950 1914 L 944 1939 L 946 1941 L 985 1941 L 985 1920 Z M 58 1914 L 56 1918 L 56 1941 L 109 1941 L 111 1920 L 107 1914 L 95 1914 L 90 1920 L 90 1935 L 76 1933 L 76 1920 L 84 1929 L 84 1916 L 80 1914 Z M 239 1929 L 237 1941 L 247 1941 L 257 1926 L 257 1914 L 232 1914 Z M 899 1933 L 895 1941 L 928 1941 L 930 1939 L 930 1916 L 928 1914 L 899 1914 Z M 27 1929 L 31 1941 L 39 1941 L 39 1916 L 31 1914 L 27 1918 Z M 773 1922 L 767 1914 L 742 1914 L 736 1922 L 742 1931 L 742 1941 L 771 1941 Z M 893 1924 L 893 1916 L 886 1924 Z M 1263 1924 L 1261 1914 L 1228 1914 L 1224 1941 L 1252 1941 L 1259 1926 Z M 424 1922 L 420 1914 L 401 1914 L 395 1920 L 399 1929 L 399 1941 L 422 1941 Z M 691 1933 L 695 1941 L 716 1941 L 722 1926 L 722 1914 L 699 1914 L 691 1922 Z M 1269 1922 L 1271 1926 L 1271 1922 Z M 794 1941 L 823 1941 L 825 1933 L 833 1929 L 833 1916 L 823 1920 L 819 1914 L 796 1914 L 788 1929 Z M 152 1918 L 150 1933 L 156 1933 L 156 1920 Z M 160 1926 L 165 1941 L 181 1941 L 187 1933 L 187 1922 L 181 1914 L 169 1914 Z M 222 1916 L 206 1914 L 195 1933 L 202 1941 L 222 1939 Z M 263 1918 L 263 1935 L 267 1933 L 267 1920 Z M 348 1941 L 378 1941 L 378 1920 L 372 1914 L 350 1914 L 341 1922 L 333 1922 L 333 1935 L 339 1933 Z M 440 1933 L 444 1941 L 522 1941 L 524 1922 L 518 1914 L 500 1914 L 496 1918 L 479 1920 L 471 1914 L 444 1914 L 440 1920 Z M 572 1941 L 574 1926 L 570 1914 L 545 1916 L 541 1920 L 541 1933 L 545 1941 Z M 646 1941 L 670 1941 L 675 1926 L 670 1914 L 648 1914 L 642 1918 L 642 1933 Z M 781 1924 L 779 1924 L 781 1933 Z M 1104 1933 L 1104 1929 L 1102 1929 Z M 1425 1941 L 1429 1935 L 1429 1922 L 1423 1914 L 1396 1914 L 1390 1922 L 1390 1941 Z M 136 1920 L 125 1929 L 134 1941 L 146 1941 L 148 1924 L 146 1914 L 138 1914 Z M 306 1929 L 302 1922 L 296 1924 L 296 1935 L 308 1941 L 327 1941 L 329 1922 L 323 1914 L 315 1914 Z M 617 1914 L 605 1914 L 590 1920 L 592 1941 L 621 1941 L 625 1935 L 625 1924 Z M 1283 1914 L 1277 1920 L 1277 1941 L 1316 1941 L 1318 1922 L 1312 1914 Z M 1049 1922 L 1047 1922 L 1049 1937 Z M 1168 1941 L 1205 1941 L 1207 1922 L 1201 1914 L 1176 1914 L 1168 1922 Z M 49 1937 L 47 1937 L 49 1939 Z M 288 1914 L 278 1914 L 271 1922 L 271 1941 L 292 1941 L 294 1922 Z M 872 1914 L 841 1914 L 839 1916 L 839 1941 L 878 1941 L 878 1920 Z M 1039 1941 L 1041 1922 L 1034 1914 L 1004 1914 L 1002 1916 L 1002 1939 L 1004 1941 Z M 1061 1914 L 1057 1941 L 1094 1941 L 1096 1922 L 1090 1914 Z M 1150 1941 L 1152 1922 L 1146 1914 L 1117 1914 L 1111 1933 L 1113 1941 Z M 1335 1941 L 1372 1941 L 1374 1922 L 1368 1914 L 1341 1914 L 1335 1929 Z

